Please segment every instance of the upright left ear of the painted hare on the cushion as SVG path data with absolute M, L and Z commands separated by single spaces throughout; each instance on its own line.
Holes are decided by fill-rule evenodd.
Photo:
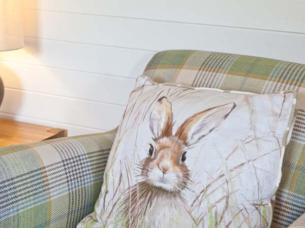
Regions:
M 171 103 L 167 100 L 167 97 L 161 97 L 157 101 L 150 114 L 149 128 L 155 139 L 172 135 L 173 113 Z

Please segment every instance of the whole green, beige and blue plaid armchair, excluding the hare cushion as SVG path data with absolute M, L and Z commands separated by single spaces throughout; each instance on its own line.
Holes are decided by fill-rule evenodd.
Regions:
M 144 74 L 158 83 L 254 93 L 298 91 L 299 111 L 271 227 L 288 227 L 305 213 L 305 65 L 173 50 L 157 53 Z M 0 148 L 0 227 L 75 227 L 94 209 L 115 134 L 113 130 Z M 305 215 L 293 227 L 305 227 L 304 221 Z

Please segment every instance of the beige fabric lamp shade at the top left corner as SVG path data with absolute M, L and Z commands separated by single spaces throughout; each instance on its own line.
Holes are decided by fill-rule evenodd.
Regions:
M 0 51 L 23 46 L 21 0 L 0 0 Z

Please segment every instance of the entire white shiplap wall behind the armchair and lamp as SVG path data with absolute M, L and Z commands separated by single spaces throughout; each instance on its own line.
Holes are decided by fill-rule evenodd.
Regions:
M 305 63 L 305 0 L 23 0 L 25 48 L 0 53 L 0 117 L 117 126 L 149 59 L 197 49 Z

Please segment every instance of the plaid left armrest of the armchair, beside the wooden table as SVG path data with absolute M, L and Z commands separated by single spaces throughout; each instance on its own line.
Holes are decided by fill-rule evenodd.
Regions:
M 115 134 L 0 148 L 0 227 L 76 227 L 94 210 Z

